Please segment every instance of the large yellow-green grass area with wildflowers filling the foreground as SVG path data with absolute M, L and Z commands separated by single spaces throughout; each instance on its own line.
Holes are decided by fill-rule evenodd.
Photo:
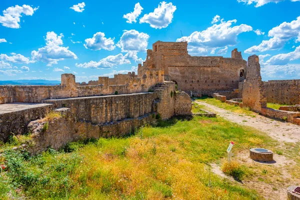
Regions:
M 233 153 L 278 146 L 250 127 L 200 116 L 160 121 L 125 138 L 71 142 L 60 151 L 35 156 L 5 144 L 0 150 L 0 164 L 7 166 L 0 169 L 0 199 L 261 199 L 254 189 L 210 173 L 210 163 L 225 159 L 231 140 Z M 297 158 L 298 149 L 276 150 L 291 150 Z M 278 174 L 268 165 L 230 168 L 231 175 L 256 181 L 273 181 Z M 297 175 L 296 170 L 290 173 Z

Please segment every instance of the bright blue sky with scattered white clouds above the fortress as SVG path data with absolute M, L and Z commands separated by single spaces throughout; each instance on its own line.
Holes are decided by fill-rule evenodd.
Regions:
M 153 42 L 182 39 L 191 55 L 259 55 L 263 80 L 300 78 L 300 0 L 2 0 L 0 10 L 0 80 L 127 73 Z

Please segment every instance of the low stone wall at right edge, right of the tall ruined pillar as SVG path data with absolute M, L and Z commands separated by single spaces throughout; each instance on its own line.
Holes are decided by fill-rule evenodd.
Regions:
M 268 107 L 262 107 L 261 114 L 272 117 L 272 118 L 286 120 L 291 123 L 294 123 L 295 118 L 300 117 L 300 112 L 277 110 L 277 109 L 272 109 L 272 108 L 268 108 Z

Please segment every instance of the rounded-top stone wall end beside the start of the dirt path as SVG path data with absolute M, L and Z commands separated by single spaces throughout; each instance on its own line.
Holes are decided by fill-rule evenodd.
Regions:
M 176 92 L 174 106 L 174 115 L 191 115 L 191 99 L 187 93 Z

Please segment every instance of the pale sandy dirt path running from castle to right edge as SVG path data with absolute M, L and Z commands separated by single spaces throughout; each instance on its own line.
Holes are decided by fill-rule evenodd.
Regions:
M 194 101 L 200 105 L 205 105 L 206 109 L 215 112 L 217 115 L 228 119 L 229 121 L 254 127 L 267 133 L 278 141 L 298 142 L 300 141 L 300 126 L 289 122 L 277 121 L 267 118 L 265 116 L 253 112 L 252 116 L 245 114 L 238 114 L 232 111 L 205 103 L 201 101 Z

